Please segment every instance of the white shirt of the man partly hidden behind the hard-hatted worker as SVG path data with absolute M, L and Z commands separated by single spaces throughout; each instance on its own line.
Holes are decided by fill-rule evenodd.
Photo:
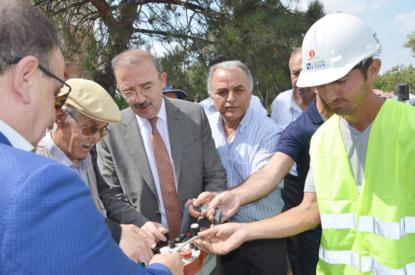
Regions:
M 288 125 L 302 114 L 302 109 L 295 103 L 293 89 L 279 93 L 273 101 L 273 113 L 271 120 L 273 120 L 281 133 Z M 293 176 L 298 176 L 297 164 L 294 162 L 290 172 Z

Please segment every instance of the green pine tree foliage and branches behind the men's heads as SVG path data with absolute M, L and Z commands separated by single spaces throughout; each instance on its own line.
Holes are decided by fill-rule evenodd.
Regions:
M 160 57 L 167 82 L 196 102 L 207 97 L 208 60 L 224 54 L 248 64 L 255 95 L 269 105 L 291 88 L 291 50 L 324 15 L 319 1 L 305 12 L 295 8 L 295 0 L 30 1 L 62 32 L 66 59 L 82 64 L 82 77 L 113 97 L 111 60 L 127 48 L 145 48 Z

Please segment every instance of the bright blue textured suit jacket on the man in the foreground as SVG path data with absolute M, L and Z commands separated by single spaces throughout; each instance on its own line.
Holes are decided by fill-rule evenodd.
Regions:
M 171 274 L 129 260 L 71 169 L 0 132 L 0 274 Z

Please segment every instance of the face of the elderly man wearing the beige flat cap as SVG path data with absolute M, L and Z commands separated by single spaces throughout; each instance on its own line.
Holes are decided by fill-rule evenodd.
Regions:
M 70 117 L 68 113 L 64 112 L 63 128 L 59 129 L 62 132 L 59 135 L 61 140 L 54 140 L 54 142 L 73 163 L 79 164 L 79 160 L 86 158 L 92 147 L 101 140 L 99 131 L 93 135 L 84 135 L 80 124 L 84 127 L 95 126 L 98 129 L 103 129 L 108 126 L 108 123 L 98 122 L 80 114 L 76 117 L 80 122 L 78 124 L 75 120 L 68 120 L 68 117 Z

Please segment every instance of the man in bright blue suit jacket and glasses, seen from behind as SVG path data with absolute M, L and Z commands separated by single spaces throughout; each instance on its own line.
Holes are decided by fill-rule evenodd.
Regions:
M 180 254 L 129 260 L 79 176 L 30 152 L 66 100 L 64 57 L 28 1 L 0 0 L 0 18 L 0 274 L 183 274 Z

